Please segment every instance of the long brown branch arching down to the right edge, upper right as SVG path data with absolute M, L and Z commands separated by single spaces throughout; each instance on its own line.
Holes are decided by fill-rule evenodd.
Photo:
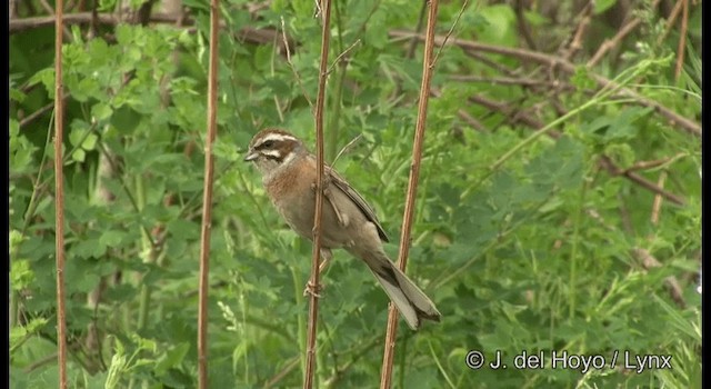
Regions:
M 415 36 L 420 40 L 425 39 L 425 37 L 422 34 L 415 34 L 410 31 L 402 31 L 402 30 L 392 30 L 389 32 L 389 36 L 393 38 L 410 38 L 412 36 Z M 443 41 L 444 41 L 443 37 L 440 37 L 440 36 L 434 37 L 435 44 L 442 44 Z M 550 54 L 524 50 L 524 49 L 484 44 L 484 43 L 463 40 L 463 39 L 452 39 L 451 42 L 452 44 L 457 44 L 459 47 L 462 47 L 469 50 L 478 50 L 478 51 L 492 52 L 492 53 L 502 54 L 502 56 L 510 56 L 519 59 L 542 63 L 549 67 L 557 67 L 558 69 L 569 74 L 572 74 L 575 72 L 575 66 L 573 63 L 571 63 L 570 61 L 563 58 L 555 57 L 555 56 L 550 56 Z M 590 78 L 592 78 L 601 88 L 618 89 L 617 86 L 611 80 L 600 74 L 591 72 Z M 632 91 L 629 88 L 620 88 L 617 92 L 617 96 L 627 97 L 632 99 L 635 103 L 640 106 L 653 108 L 654 111 L 657 111 L 659 114 L 667 118 L 672 124 L 678 124 L 678 126 L 673 126 L 674 128 L 681 128 L 693 136 L 701 137 L 701 127 L 699 126 L 699 123 L 682 117 L 681 114 L 670 110 L 669 108 L 662 106 L 657 101 L 647 99 L 640 96 L 639 93 Z

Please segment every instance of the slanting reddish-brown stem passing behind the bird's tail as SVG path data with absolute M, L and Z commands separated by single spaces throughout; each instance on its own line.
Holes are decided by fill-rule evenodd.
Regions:
M 414 142 L 412 144 L 412 166 L 410 167 L 410 178 L 408 181 L 408 193 L 404 203 L 404 215 L 402 217 L 402 230 L 400 232 L 400 248 L 398 252 L 398 265 L 404 272 L 408 265 L 410 251 L 410 233 L 414 215 L 414 199 L 420 179 L 420 162 L 422 160 L 422 143 L 424 141 L 424 129 L 427 123 L 427 109 L 430 98 L 430 84 L 434 69 L 434 27 L 437 26 L 437 11 L 439 0 L 430 0 L 430 9 L 427 18 L 427 38 L 424 39 L 424 56 L 422 59 L 422 83 L 420 84 L 420 99 L 418 104 L 418 121 L 414 130 Z M 385 333 L 384 355 L 382 370 L 380 373 L 380 388 L 390 389 L 392 382 L 392 365 L 394 361 L 394 347 L 398 335 L 398 309 L 390 302 L 388 312 L 388 330 Z

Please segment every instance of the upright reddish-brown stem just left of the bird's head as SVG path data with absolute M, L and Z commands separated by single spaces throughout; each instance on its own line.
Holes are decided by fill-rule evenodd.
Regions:
M 218 43 L 220 28 L 220 1 L 210 1 L 210 67 L 208 70 L 208 133 L 204 146 L 204 181 L 202 197 L 202 222 L 200 225 L 200 285 L 198 305 L 198 387 L 208 383 L 208 291 L 210 290 L 210 231 L 212 223 L 212 187 L 214 181 L 214 156 L 212 143 L 217 136 L 218 113 Z

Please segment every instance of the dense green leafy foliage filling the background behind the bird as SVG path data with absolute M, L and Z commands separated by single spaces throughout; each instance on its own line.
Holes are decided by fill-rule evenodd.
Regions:
M 604 12 L 617 3 L 595 3 L 593 29 L 609 28 Z M 88 38 L 88 28 L 76 24 L 63 48 L 64 277 L 76 388 L 196 387 L 209 7 L 183 4 L 190 28 L 101 24 Z M 117 2 L 99 6 L 112 10 Z M 248 6 L 222 4 L 210 385 L 299 387 L 311 248 L 278 218 L 242 153 L 266 126 L 313 141 L 320 27 L 310 0 Z M 447 34 L 460 7 L 441 6 L 438 34 Z M 573 26 L 544 8 L 528 10 L 523 20 L 547 38 L 547 49 L 565 43 Z M 603 74 L 700 121 L 699 11 L 691 9 L 678 81 L 671 53 L 679 33 L 664 36 L 663 20 L 649 10 L 634 13 L 653 34 L 648 43 L 635 46 L 631 36 L 620 53 L 591 69 L 584 61 L 597 47 L 585 46 L 572 74 L 500 53 L 485 57 L 492 67 L 455 44 L 441 49 L 408 272 L 443 320 L 400 331 L 398 387 L 700 387 L 699 139 L 595 81 Z M 333 12 L 327 158 L 362 136 L 336 167 L 378 210 L 392 241 L 385 250 L 395 258 L 422 53 L 389 33 L 412 30 L 420 9 L 401 0 L 336 1 Z M 577 14 L 560 12 L 570 13 L 567 20 Z M 451 39 L 522 47 L 518 23 L 509 4 L 471 4 Z M 247 28 L 271 31 L 271 39 L 246 39 Z M 13 388 L 58 380 L 53 117 L 30 118 L 54 99 L 52 37 L 48 28 L 10 37 Z M 552 79 L 541 76 L 547 72 Z M 495 81 L 504 76 L 563 87 Z M 487 107 L 474 96 L 503 103 Z M 615 174 L 602 168 L 603 158 L 631 170 Z M 662 199 L 629 172 L 683 202 Z M 640 249 L 661 266 L 649 266 Z M 364 269 L 337 252 L 323 276 L 322 386 L 378 380 L 388 299 Z M 670 278 L 679 285 L 672 292 Z M 470 350 L 483 352 L 483 368 L 465 366 Z M 488 368 L 497 351 L 508 369 Z M 599 355 L 608 365 L 553 368 L 552 351 Z M 611 369 L 615 351 L 672 356 L 673 369 L 637 373 L 623 360 Z M 522 352 L 547 358 L 539 369 L 514 369 Z

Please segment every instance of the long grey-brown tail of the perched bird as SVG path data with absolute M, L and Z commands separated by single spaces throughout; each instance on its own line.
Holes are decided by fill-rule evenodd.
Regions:
M 430 298 L 390 259 L 378 258 L 365 263 L 410 328 L 417 330 L 422 319 L 440 321 L 441 315 Z

